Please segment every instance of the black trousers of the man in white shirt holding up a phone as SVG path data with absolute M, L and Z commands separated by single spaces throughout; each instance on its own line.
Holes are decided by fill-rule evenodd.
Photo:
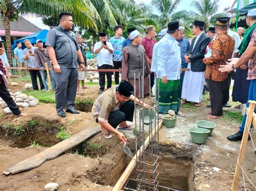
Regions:
M 98 66 L 98 69 L 113 69 L 111 65 Z M 112 85 L 112 74 L 113 72 L 99 72 L 99 89 L 102 91 L 105 88 L 105 75 L 107 77 L 107 88 L 111 88 Z

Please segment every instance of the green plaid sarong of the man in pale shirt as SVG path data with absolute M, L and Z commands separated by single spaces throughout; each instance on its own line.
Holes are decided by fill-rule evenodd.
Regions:
M 168 110 L 173 110 L 176 114 L 180 108 L 181 86 L 180 80 L 168 80 L 166 84 L 161 82 L 161 79 L 157 78 L 156 89 L 159 95 L 157 101 L 159 101 L 159 113 L 163 114 Z

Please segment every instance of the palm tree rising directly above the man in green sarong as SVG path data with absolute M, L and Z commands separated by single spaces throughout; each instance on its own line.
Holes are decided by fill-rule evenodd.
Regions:
M 172 13 L 177 8 L 181 0 L 152 0 L 151 6 L 160 12 L 159 25 L 164 29 L 171 20 Z

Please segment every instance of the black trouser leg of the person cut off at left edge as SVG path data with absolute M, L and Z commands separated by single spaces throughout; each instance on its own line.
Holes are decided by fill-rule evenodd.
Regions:
M 12 100 L 12 97 L 4 83 L 0 83 L 0 97 L 2 97 L 3 101 L 5 101 L 14 115 L 21 114 L 21 110 L 19 110 L 14 100 Z

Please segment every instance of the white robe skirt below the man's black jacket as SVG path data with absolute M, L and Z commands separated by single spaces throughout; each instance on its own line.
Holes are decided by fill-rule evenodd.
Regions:
M 187 68 L 191 68 L 189 62 Z M 181 98 L 189 102 L 200 103 L 205 82 L 205 72 L 186 71 L 183 80 Z

